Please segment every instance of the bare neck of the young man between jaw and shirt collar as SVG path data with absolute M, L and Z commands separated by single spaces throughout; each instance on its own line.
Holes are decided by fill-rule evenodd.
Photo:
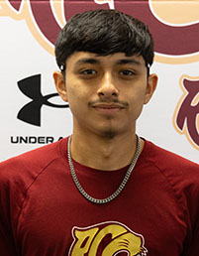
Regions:
M 144 142 L 142 141 L 141 149 Z M 129 165 L 136 152 L 137 136 L 131 134 L 104 137 L 73 132 L 71 157 L 78 163 L 94 169 L 114 171 Z

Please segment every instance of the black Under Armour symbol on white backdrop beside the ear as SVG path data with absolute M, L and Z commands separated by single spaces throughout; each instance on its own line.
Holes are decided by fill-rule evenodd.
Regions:
M 41 126 L 41 108 L 43 105 L 50 107 L 69 107 L 66 105 L 57 105 L 50 103 L 49 99 L 58 96 L 58 93 L 51 93 L 44 96 L 41 92 L 41 74 L 36 74 L 25 79 L 18 81 L 18 86 L 20 90 L 29 98 L 32 99 L 31 102 L 23 106 L 17 118 L 33 125 Z

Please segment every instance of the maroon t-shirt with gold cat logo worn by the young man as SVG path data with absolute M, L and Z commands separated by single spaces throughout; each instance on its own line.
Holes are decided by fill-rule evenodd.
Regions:
M 2 256 L 199 255 L 199 166 L 146 141 L 125 189 L 95 204 L 76 189 L 67 139 L 0 164 Z M 128 167 L 73 161 L 86 192 L 104 198 Z

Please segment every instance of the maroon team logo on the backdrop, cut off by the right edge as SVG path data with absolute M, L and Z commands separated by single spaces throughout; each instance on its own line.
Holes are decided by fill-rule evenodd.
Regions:
M 176 116 L 176 125 L 180 131 L 186 129 L 191 140 L 199 146 L 199 80 L 184 78 L 183 87 L 186 93 Z

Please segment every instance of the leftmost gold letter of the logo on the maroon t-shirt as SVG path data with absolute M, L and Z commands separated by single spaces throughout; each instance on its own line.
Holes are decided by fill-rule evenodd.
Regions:
M 98 230 L 99 228 L 97 227 L 83 231 L 76 229 L 74 235 L 77 241 L 72 248 L 71 256 L 84 256 L 88 252 L 90 244 Z

